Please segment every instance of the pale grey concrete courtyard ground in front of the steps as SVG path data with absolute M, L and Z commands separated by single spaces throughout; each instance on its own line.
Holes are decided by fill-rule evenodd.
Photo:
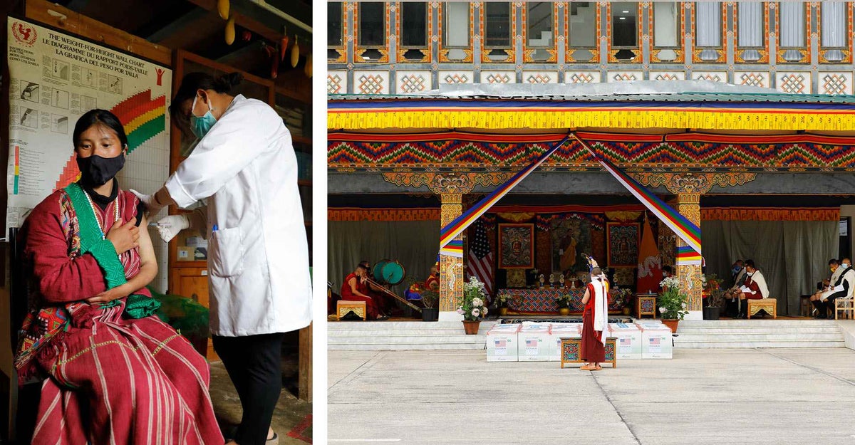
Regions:
M 600 372 L 330 351 L 330 443 L 855 443 L 855 351 L 675 349 Z

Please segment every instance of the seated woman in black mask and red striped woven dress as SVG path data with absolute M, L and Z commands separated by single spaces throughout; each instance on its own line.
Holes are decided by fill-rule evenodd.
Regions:
M 74 150 L 80 181 L 39 203 L 21 230 L 33 309 L 15 367 L 21 383 L 46 377 L 32 443 L 221 445 L 208 363 L 153 315 L 144 208 L 114 179 L 127 153 L 121 122 L 87 112 Z

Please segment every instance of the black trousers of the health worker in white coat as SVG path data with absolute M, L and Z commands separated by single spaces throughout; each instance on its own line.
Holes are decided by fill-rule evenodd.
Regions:
M 282 391 L 284 332 L 246 337 L 213 336 L 214 350 L 226 366 L 244 408 L 234 441 L 264 445 Z

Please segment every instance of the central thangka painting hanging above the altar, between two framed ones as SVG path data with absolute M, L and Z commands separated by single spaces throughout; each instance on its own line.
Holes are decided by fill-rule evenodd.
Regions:
M 592 255 L 591 221 L 576 214 L 563 215 L 551 221 L 552 271 L 565 277 L 575 272 L 588 272 L 582 254 Z M 602 261 L 602 260 L 600 260 Z

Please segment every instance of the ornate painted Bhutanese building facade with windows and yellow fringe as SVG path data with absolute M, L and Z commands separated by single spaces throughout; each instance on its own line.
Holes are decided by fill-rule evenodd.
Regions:
M 414 4 L 330 3 L 331 221 L 421 218 L 439 230 L 569 131 L 697 225 L 836 222 L 852 199 L 852 3 Z M 696 79 L 767 90 L 681 82 Z M 644 80 L 656 82 L 618 84 Z M 400 198 L 424 194 L 435 207 Z M 554 220 L 575 219 L 587 248 L 610 259 L 621 254 L 612 227 L 643 220 L 627 195 L 587 149 L 565 143 L 486 215 L 490 247 L 502 249 L 499 225 L 531 224 L 531 268 L 559 272 L 554 234 L 578 225 Z M 362 196 L 373 208 L 351 205 Z M 386 198 L 395 204 L 377 204 Z M 673 264 L 681 241 L 655 233 Z M 463 265 L 441 266 L 440 310 L 450 313 Z M 626 261 L 610 266 L 632 274 Z M 776 285 L 787 294 L 779 312 L 798 313 L 793 295 L 825 266 L 808 269 L 800 287 Z M 697 317 L 700 267 L 677 272 Z

